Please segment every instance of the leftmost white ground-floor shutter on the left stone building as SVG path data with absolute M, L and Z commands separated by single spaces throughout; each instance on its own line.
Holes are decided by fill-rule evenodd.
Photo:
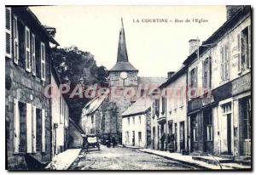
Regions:
M 20 150 L 20 110 L 19 101 L 14 99 L 14 153 Z

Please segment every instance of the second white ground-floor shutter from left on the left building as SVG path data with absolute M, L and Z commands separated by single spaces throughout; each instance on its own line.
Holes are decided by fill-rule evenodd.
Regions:
M 26 153 L 32 153 L 32 104 L 26 104 Z

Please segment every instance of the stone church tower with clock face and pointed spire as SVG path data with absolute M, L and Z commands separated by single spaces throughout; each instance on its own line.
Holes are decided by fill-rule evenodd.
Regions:
M 133 92 L 137 93 L 138 87 L 138 70 L 131 65 L 128 60 L 126 42 L 125 42 L 125 29 L 123 24 L 123 19 L 121 19 L 122 26 L 119 31 L 119 45 L 117 53 L 116 64 L 113 65 L 113 68 L 109 72 L 109 88 L 111 93 L 109 96 L 110 102 L 116 104 L 117 110 L 115 110 L 116 128 L 117 128 L 117 137 L 119 144 L 122 141 L 122 117 L 121 114 L 127 110 L 131 104 L 135 101 L 134 98 L 125 95 L 125 92 L 128 92 L 133 89 Z M 113 89 L 114 92 L 113 92 Z M 130 90 L 129 90 L 130 89 Z M 130 91 L 131 93 L 131 91 Z M 135 95 L 136 96 L 136 95 Z

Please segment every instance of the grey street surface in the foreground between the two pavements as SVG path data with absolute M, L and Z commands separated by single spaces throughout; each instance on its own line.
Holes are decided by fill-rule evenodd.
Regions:
M 149 155 L 128 148 L 107 148 L 82 150 L 70 170 L 191 170 L 177 161 L 170 161 L 157 155 Z

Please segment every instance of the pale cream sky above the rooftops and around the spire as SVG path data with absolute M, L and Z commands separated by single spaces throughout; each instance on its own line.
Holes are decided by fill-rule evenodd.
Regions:
M 41 6 L 31 9 L 43 25 L 56 28 L 55 40 L 61 48 L 75 45 L 88 51 L 95 56 L 97 65 L 104 65 L 108 70 L 116 63 L 122 17 L 128 58 L 139 70 L 139 76 L 167 76 L 168 71 L 177 71 L 189 56 L 189 39 L 207 40 L 226 20 L 225 6 Z M 153 19 L 168 22 L 148 22 Z

